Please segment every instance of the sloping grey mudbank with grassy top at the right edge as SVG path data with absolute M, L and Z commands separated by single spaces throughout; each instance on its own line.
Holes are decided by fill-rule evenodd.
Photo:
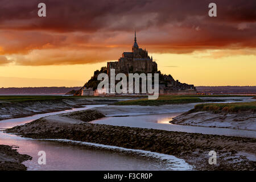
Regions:
M 170 122 L 256 131 L 256 102 L 199 104 Z

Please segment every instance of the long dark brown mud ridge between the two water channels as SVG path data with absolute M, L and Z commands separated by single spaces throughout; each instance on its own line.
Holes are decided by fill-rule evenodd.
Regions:
M 28 138 L 68 139 L 174 155 L 199 170 L 255 170 L 256 139 L 67 121 L 46 117 L 6 131 Z M 208 163 L 212 150 L 217 152 L 216 165 Z

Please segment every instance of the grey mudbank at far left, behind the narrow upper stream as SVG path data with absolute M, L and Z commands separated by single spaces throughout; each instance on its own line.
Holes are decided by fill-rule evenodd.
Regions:
M 33 98 L 33 96 L 31 96 Z M 3 119 L 21 118 L 34 114 L 43 114 L 55 111 L 62 111 L 73 109 L 77 107 L 84 107 L 84 105 L 93 104 L 112 104 L 117 102 L 117 99 L 104 99 L 97 97 L 77 97 L 68 98 L 61 97 L 61 99 L 45 99 L 45 100 L 32 100 L 32 98 L 25 101 L 9 101 L 3 100 L 0 102 L 0 121 Z M 9 102 L 8 102 L 9 101 Z

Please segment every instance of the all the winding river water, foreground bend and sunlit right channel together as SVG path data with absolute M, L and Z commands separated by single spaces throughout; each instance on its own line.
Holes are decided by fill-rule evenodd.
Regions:
M 245 100 L 243 100 L 245 101 Z M 250 101 L 250 100 L 249 100 Z M 106 105 L 86 105 L 85 107 L 46 114 L 36 114 L 31 117 L 6 119 L 0 121 L 0 129 L 7 129 L 17 125 L 23 125 L 46 117 L 48 115 L 68 113 L 72 111 L 93 109 Z M 190 105 L 188 110 L 190 109 Z M 108 116 L 92 121 L 116 126 L 143 127 L 148 129 L 160 129 L 168 131 L 184 131 L 187 133 L 217 134 L 238 137 L 256 138 L 255 131 L 218 129 L 210 127 L 195 127 L 172 125 L 168 121 L 183 113 L 142 114 L 122 116 Z M 127 148 L 105 146 L 101 144 L 77 142 L 61 139 L 30 139 L 14 134 L 6 134 L 0 131 L 0 144 L 18 146 L 20 154 L 32 156 L 32 160 L 24 162 L 28 170 L 191 170 L 192 166 L 183 159 L 172 155 L 156 152 L 131 150 Z M 38 164 L 38 152 L 45 151 L 47 164 Z

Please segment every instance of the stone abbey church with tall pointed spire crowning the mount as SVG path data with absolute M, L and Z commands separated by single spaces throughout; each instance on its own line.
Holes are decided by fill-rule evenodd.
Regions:
M 115 74 L 156 73 L 158 71 L 158 65 L 153 61 L 152 56 L 148 56 L 146 49 L 139 48 L 136 31 L 132 52 L 123 52 L 118 61 L 108 62 L 107 68 L 108 75 L 110 74 L 110 69 L 115 69 Z

